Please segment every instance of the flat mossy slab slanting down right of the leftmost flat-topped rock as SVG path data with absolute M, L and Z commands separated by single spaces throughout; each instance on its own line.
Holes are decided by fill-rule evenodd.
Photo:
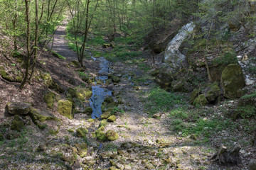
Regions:
M 48 111 L 41 111 L 36 108 L 32 108 L 28 115 L 33 121 L 38 120 L 40 122 L 44 122 L 46 120 L 58 120 L 58 118 L 56 118 L 52 113 L 49 113 Z

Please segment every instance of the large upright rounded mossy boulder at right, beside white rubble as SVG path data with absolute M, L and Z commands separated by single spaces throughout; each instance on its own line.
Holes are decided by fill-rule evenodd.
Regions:
M 242 68 L 238 64 L 229 64 L 221 74 L 220 85 L 226 98 L 238 98 L 239 90 L 245 86 Z

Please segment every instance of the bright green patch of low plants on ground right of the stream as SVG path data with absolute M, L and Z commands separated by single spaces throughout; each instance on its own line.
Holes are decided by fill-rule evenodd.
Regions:
M 166 112 L 176 104 L 186 103 L 186 101 L 183 100 L 183 96 L 169 93 L 160 88 L 152 89 L 148 95 L 145 108 L 150 114 Z

